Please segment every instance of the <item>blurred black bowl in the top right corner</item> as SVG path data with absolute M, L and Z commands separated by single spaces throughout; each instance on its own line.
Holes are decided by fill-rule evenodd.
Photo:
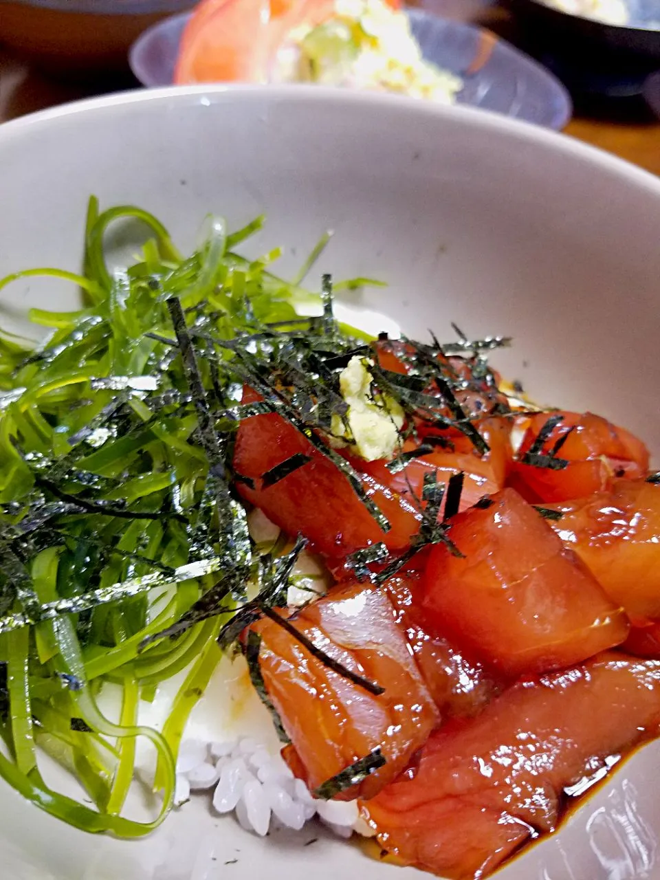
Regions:
M 507 2 L 534 54 L 574 92 L 639 95 L 649 74 L 660 69 L 658 0 L 628 0 L 627 26 L 570 15 L 541 0 Z

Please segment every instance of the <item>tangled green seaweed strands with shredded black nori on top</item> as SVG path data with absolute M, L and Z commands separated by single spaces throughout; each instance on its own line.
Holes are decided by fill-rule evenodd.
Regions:
M 104 235 L 127 219 L 146 226 L 150 238 L 135 265 L 115 270 Z M 29 269 L 0 282 L 4 290 L 33 275 L 55 276 L 76 284 L 83 299 L 76 312 L 33 310 L 33 321 L 49 328 L 36 346 L 0 334 L 0 776 L 89 832 L 131 838 L 162 822 L 187 718 L 223 650 L 261 614 L 297 632 L 273 608 L 295 583 L 304 541 L 275 557 L 250 539 L 234 488 L 241 476 L 231 469 L 241 419 L 260 412 L 288 419 L 340 468 L 383 531 L 389 527 L 324 439 L 333 414 L 346 411 L 339 373 L 354 353 L 369 351 L 370 339 L 334 319 L 329 278 L 320 295 L 299 286 L 329 236 L 288 283 L 269 269 L 278 252 L 259 260 L 236 252 L 262 224 L 259 217 L 230 234 L 210 217 L 202 245 L 183 257 L 147 211 L 100 212 L 92 198 L 82 275 Z M 369 279 L 341 286 L 363 282 Z M 313 304 L 318 318 L 298 316 L 297 308 Z M 497 344 L 461 337 L 458 350 L 470 349 L 481 363 L 482 351 Z M 458 425 L 483 448 L 451 391 L 464 379 L 454 383 L 445 370 L 445 400 L 425 394 L 441 349 L 415 345 L 412 378 L 374 367 L 381 392 L 407 413 Z M 246 383 L 260 402 L 241 403 Z M 290 459 L 267 482 L 305 464 Z M 446 540 L 436 511 L 432 520 L 426 539 Z M 370 561 L 360 562 L 367 576 Z M 257 586 L 249 601 L 248 582 Z M 258 652 L 248 648 L 254 674 Z M 162 732 L 141 726 L 140 701 L 184 671 Z M 115 721 L 97 701 L 110 685 L 121 693 Z M 158 755 L 151 784 L 159 809 L 149 822 L 122 815 L 135 781 L 136 737 Z M 91 806 L 48 787 L 39 750 L 76 777 Z

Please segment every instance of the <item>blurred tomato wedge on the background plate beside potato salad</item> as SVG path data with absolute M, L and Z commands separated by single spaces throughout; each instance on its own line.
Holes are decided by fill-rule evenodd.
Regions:
M 266 82 L 287 34 L 333 15 L 334 0 L 202 0 L 183 33 L 174 82 Z

